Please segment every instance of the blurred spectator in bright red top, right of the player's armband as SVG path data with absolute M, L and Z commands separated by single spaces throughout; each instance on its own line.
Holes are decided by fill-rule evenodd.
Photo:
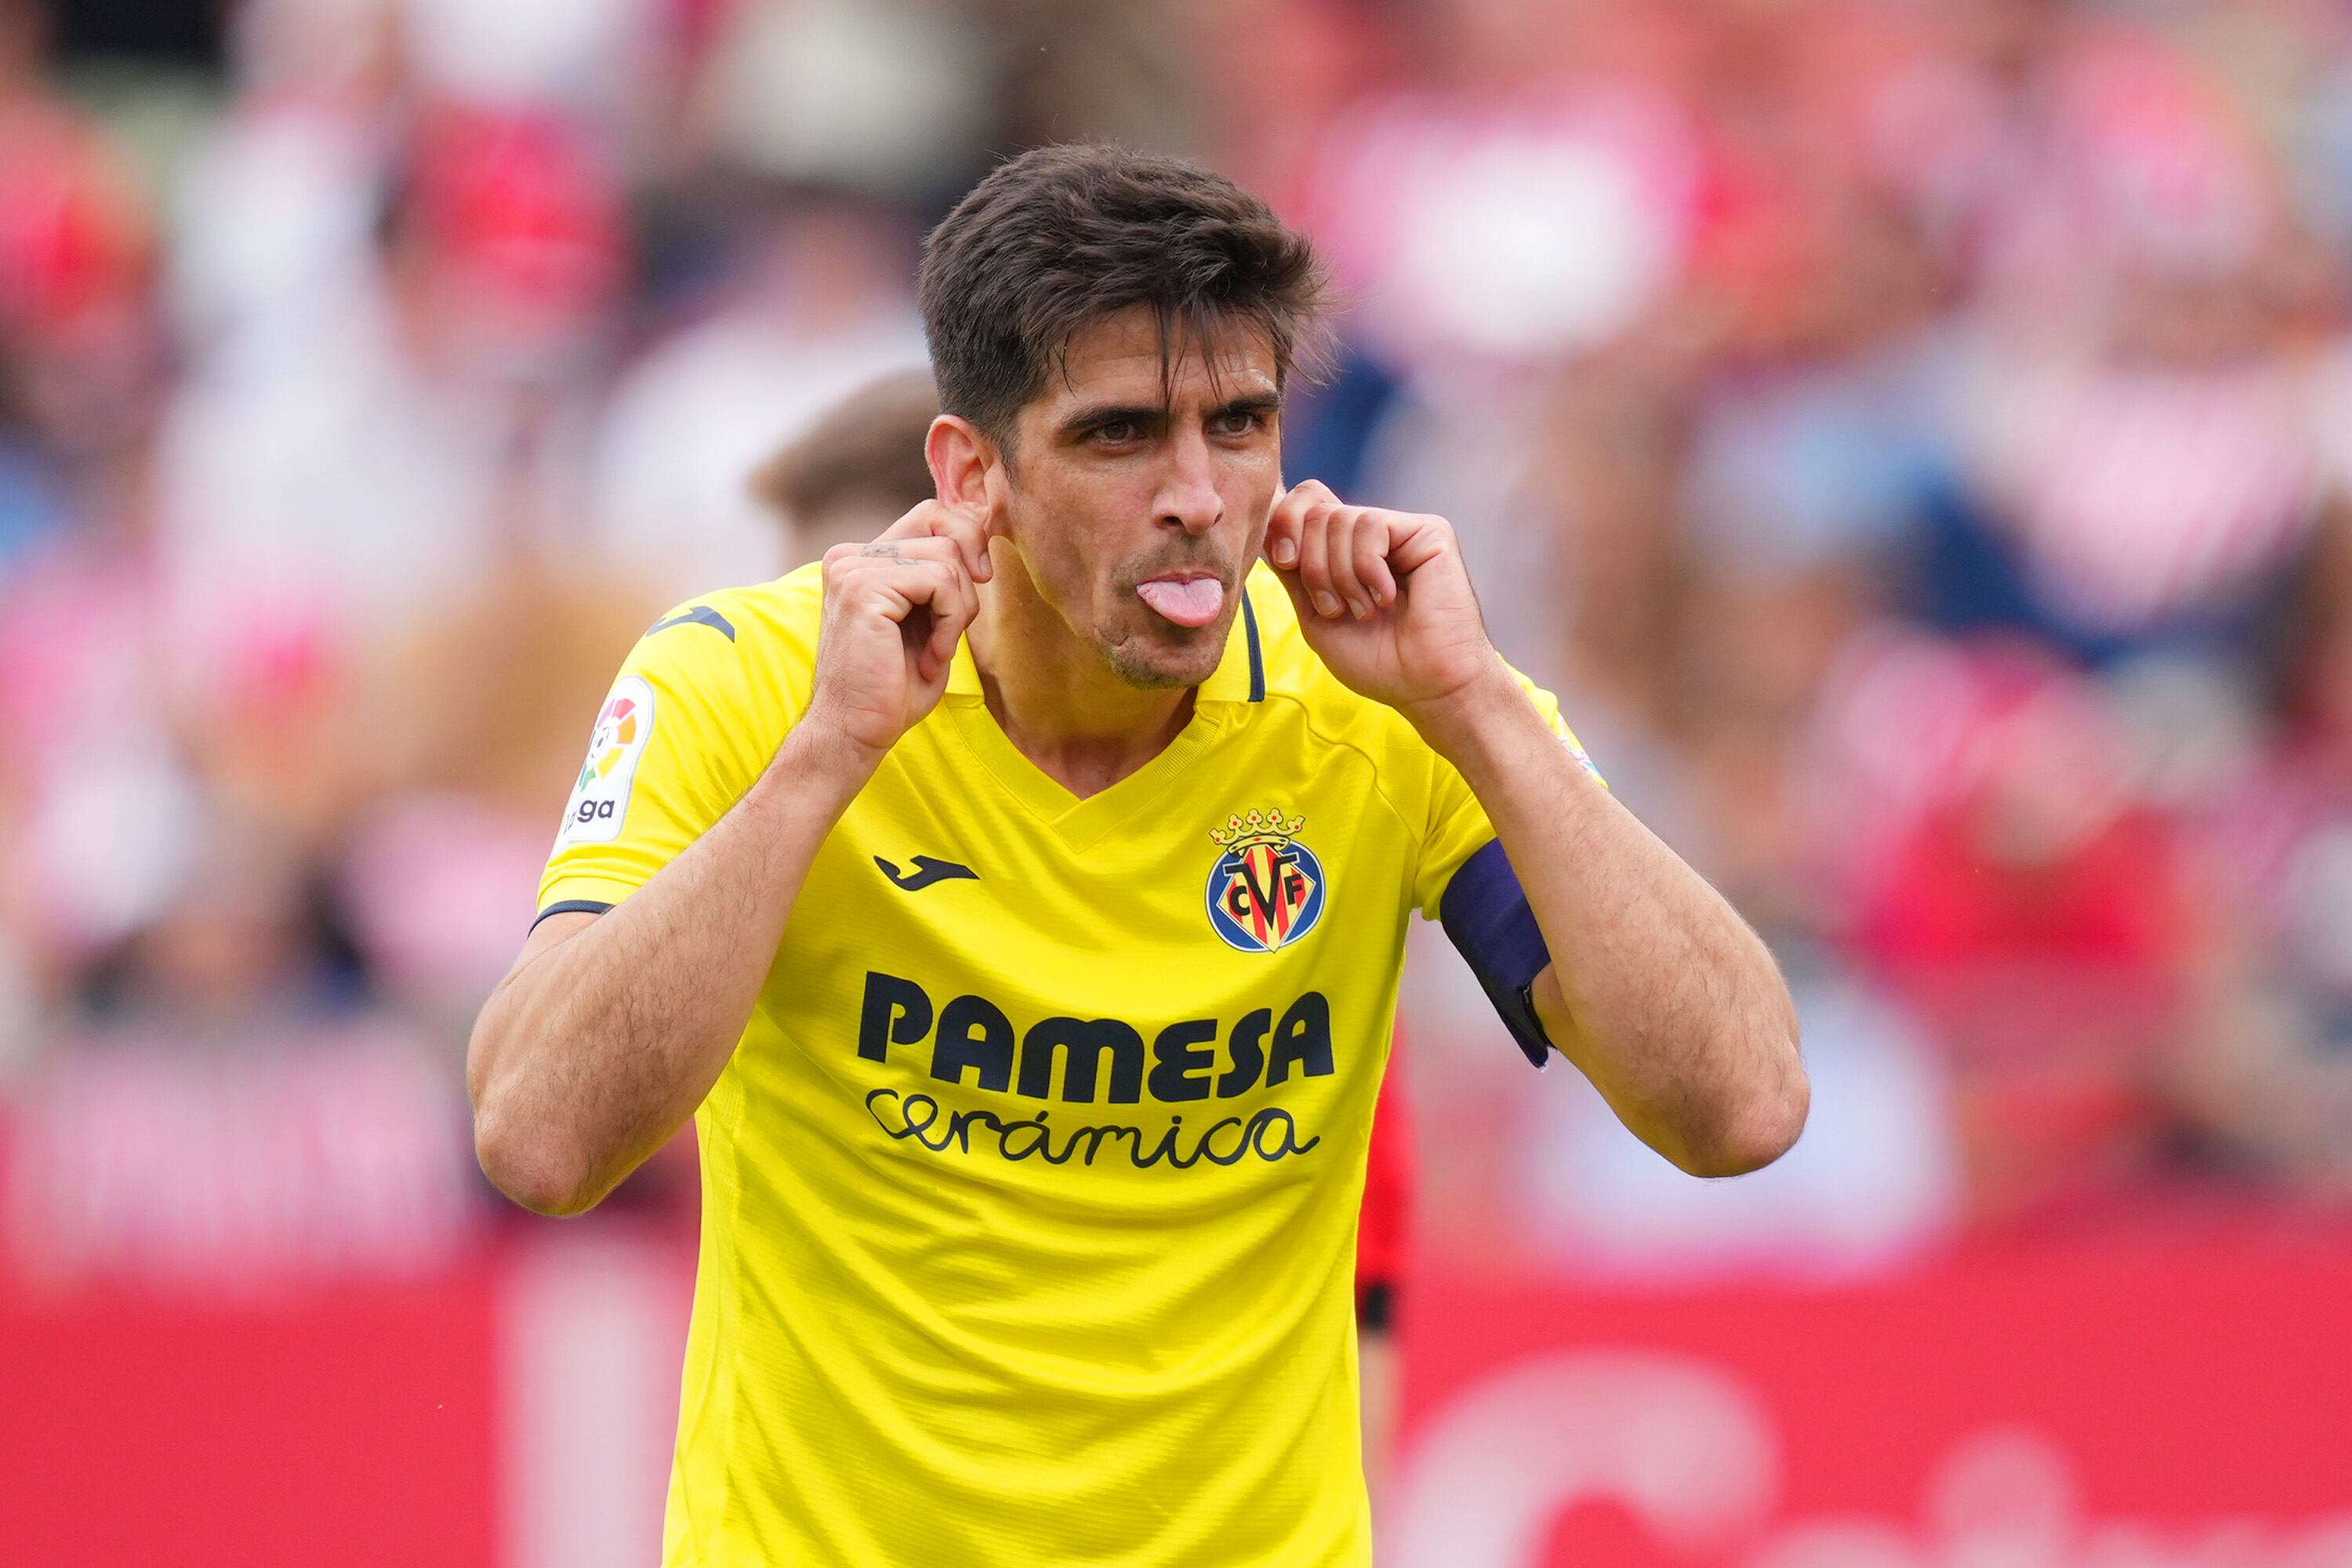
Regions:
M 1846 766 L 1900 771 L 1849 773 L 1849 938 L 1955 1060 L 1980 1213 L 2145 1192 L 2197 1020 L 2178 825 L 2129 788 L 2103 691 L 2037 649 L 1889 649 L 1860 679 L 1884 686 L 1842 712 Z

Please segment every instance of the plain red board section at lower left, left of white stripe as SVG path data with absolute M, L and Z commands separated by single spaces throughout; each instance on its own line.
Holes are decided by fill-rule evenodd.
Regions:
M 278 1305 L 0 1274 L 0 1561 L 489 1568 L 489 1269 Z

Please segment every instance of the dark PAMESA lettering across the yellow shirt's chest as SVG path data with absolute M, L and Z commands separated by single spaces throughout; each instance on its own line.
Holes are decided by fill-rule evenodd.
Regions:
M 1218 1037 L 1225 1039 L 1223 1072 Z M 1152 1100 L 1169 1103 L 1230 1100 L 1261 1081 L 1287 1084 L 1294 1072 L 1327 1077 L 1331 1004 L 1322 992 L 1305 992 L 1282 1011 L 1279 1023 L 1275 1009 L 1261 1006 L 1242 1013 L 1232 1030 L 1216 1018 L 1185 1018 L 1152 1034 L 1145 1048 L 1143 1030 L 1120 1018 L 1044 1018 L 1014 1030 L 1014 1020 L 988 997 L 950 997 L 934 1013 L 931 994 L 917 983 L 868 971 L 858 1056 L 887 1063 L 891 1046 L 920 1046 L 924 1039 L 931 1041 L 931 1077 L 943 1084 L 962 1084 L 969 1072 L 978 1088 L 1049 1100 L 1056 1098 L 1058 1060 L 1058 1098 L 1075 1105 L 1091 1105 L 1098 1091 L 1110 1105 L 1131 1105 L 1145 1088 Z

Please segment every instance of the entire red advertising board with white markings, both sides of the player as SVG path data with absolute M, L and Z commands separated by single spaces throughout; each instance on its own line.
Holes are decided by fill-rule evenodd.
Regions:
M 261 1302 L 0 1284 L 0 1561 L 659 1552 L 691 1258 Z M 1430 1272 L 1383 1568 L 2352 1568 L 2352 1246 L 1656 1291 Z

